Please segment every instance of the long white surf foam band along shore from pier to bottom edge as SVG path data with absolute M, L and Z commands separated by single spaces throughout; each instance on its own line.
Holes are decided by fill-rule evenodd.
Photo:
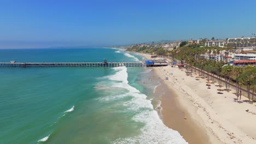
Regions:
M 151 100 L 147 99 L 147 95 L 140 93 L 138 89 L 129 85 L 127 68 L 115 67 L 113 69 L 117 71 L 114 75 L 104 77 L 115 81 L 109 87 L 124 88 L 128 92 L 121 95 L 106 96 L 106 99 L 132 97 L 131 100 L 123 102 L 122 105 L 127 107 L 126 111 L 137 113 L 132 118 L 134 121 L 142 122 L 145 125 L 141 128 L 141 134 L 133 137 L 120 137 L 112 143 L 187 143 L 178 131 L 167 128 L 162 123 L 158 112 L 154 110 Z

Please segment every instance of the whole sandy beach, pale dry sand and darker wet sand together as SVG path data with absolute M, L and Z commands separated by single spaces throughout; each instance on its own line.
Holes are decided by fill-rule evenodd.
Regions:
M 150 59 L 147 54 L 140 55 Z M 256 143 L 255 104 L 236 103 L 236 95 L 232 94 L 235 89 L 218 94 L 219 87 L 212 84 L 208 89 L 206 79 L 195 80 L 198 74 L 187 76 L 184 70 L 170 65 L 153 68 L 153 71 L 165 84 L 156 89 L 166 92 L 161 95 L 162 121 L 179 131 L 186 141 Z M 243 100 L 247 98 L 242 97 Z

